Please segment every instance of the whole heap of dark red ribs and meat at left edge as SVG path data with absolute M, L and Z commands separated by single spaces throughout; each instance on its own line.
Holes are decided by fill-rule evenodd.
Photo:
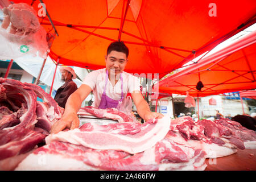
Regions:
M 63 109 L 36 85 L 0 78 L 0 90 L 0 169 L 10 170 L 44 141 Z

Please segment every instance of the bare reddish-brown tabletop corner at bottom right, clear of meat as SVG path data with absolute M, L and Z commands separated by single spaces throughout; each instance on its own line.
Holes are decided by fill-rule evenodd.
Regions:
M 256 171 L 256 149 L 239 149 L 236 154 L 205 162 L 205 171 Z

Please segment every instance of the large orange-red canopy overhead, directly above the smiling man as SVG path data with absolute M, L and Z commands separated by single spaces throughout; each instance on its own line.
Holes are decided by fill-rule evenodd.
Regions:
M 39 0 L 14 0 L 33 3 Z M 105 67 L 106 49 L 129 47 L 129 73 L 163 77 L 254 22 L 256 1 L 44 0 L 59 36 L 49 56 L 60 64 Z M 47 31 L 48 18 L 40 19 Z M 193 53 L 192 53 L 193 52 Z M 194 54 L 195 53 L 195 54 Z

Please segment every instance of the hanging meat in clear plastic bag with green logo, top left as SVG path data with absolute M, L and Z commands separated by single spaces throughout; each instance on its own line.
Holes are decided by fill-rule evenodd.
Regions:
M 37 53 L 46 59 L 49 51 L 47 33 L 40 26 L 34 9 L 26 3 L 19 3 L 4 8 L 3 13 L 3 23 L 0 27 L 0 59 L 36 56 Z

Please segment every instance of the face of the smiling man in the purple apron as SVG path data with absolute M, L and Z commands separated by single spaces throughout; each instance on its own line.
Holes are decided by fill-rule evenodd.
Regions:
M 108 72 L 116 76 L 125 69 L 127 63 L 126 54 L 123 52 L 111 51 L 105 56 L 106 69 Z M 113 71 L 113 72 L 110 72 Z

